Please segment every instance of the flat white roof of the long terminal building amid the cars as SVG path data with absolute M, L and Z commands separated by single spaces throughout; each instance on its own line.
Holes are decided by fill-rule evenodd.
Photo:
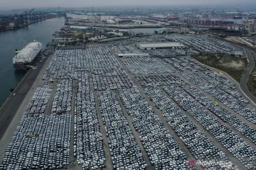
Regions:
M 185 47 L 181 42 L 152 42 L 152 43 L 139 43 L 139 47 L 152 48 L 152 47 Z

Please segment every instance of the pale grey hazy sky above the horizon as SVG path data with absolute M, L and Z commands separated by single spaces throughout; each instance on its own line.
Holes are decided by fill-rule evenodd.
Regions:
M 156 6 L 253 3 L 256 0 L 0 0 L 1 9 L 31 7 Z

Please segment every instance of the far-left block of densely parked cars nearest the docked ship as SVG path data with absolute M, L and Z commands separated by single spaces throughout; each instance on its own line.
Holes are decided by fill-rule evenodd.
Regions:
M 76 79 L 76 72 L 121 72 L 119 63 L 106 45 L 88 45 L 85 49 L 56 50 L 43 79 Z

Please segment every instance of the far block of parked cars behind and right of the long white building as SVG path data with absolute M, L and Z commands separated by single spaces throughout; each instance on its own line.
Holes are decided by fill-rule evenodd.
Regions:
M 182 42 L 184 45 L 193 47 L 193 49 L 203 53 L 221 52 L 236 56 L 245 55 L 242 48 L 206 35 L 170 34 L 166 35 L 165 38 L 171 41 Z

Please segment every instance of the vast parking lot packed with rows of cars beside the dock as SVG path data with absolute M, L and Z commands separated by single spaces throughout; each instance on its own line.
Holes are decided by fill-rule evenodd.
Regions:
M 200 160 L 254 169 L 255 107 L 233 81 L 189 52 L 117 57 L 141 52 L 136 41 L 165 40 L 155 35 L 56 50 L 0 169 L 227 169 L 188 164 Z M 206 41 L 240 54 L 226 42 Z

